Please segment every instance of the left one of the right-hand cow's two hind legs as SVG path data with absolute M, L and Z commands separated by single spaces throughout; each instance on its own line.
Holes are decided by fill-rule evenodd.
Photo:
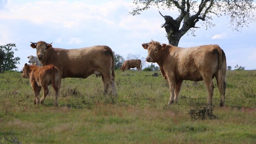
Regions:
M 212 95 L 213 95 L 213 89 L 214 89 L 214 84 L 212 82 L 212 76 L 203 76 L 204 79 L 204 84 L 208 92 L 208 100 L 207 100 L 207 105 L 212 105 Z

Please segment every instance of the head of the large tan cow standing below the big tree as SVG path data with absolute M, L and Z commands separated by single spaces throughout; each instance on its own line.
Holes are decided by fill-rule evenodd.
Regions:
M 166 44 L 151 40 L 149 43 L 141 44 L 144 49 L 148 50 L 147 62 L 157 62 L 161 58 L 161 51 L 165 48 Z

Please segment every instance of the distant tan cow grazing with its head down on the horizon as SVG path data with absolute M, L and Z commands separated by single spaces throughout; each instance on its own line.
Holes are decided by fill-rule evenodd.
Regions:
M 121 69 L 121 71 L 124 71 L 124 69 L 131 70 L 131 68 L 137 68 L 137 71 L 138 71 L 138 70 L 141 70 L 140 66 L 141 66 L 140 59 L 125 60 L 120 69 Z

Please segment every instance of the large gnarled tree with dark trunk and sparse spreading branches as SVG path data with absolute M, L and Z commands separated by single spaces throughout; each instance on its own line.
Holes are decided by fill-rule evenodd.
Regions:
M 137 5 L 133 8 L 133 16 L 147 10 L 151 5 L 157 8 L 174 9 L 177 8 L 180 15 L 174 19 L 168 15 L 162 15 L 165 23 L 162 25 L 167 33 L 169 44 L 178 46 L 180 38 L 188 31 L 194 35 L 196 23 L 200 20 L 208 27 L 214 26 L 210 22 L 212 15 L 228 16 L 230 27 L 240 31 L 240 28 L 247 26 L 249 22 L 255 22 L 255 0 L 132 0 Z M 143 5 L 141 7 L 141 5 Z

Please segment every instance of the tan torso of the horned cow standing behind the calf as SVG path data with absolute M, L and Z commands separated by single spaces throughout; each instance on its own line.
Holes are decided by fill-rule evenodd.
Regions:
M 111 70 L 112 55 L 108 46 L 92 46 L 80 49 L 51 48 L 44 65 L 53 64 L 59 69 L 61 78 L 86 78 L 95 70 Z M 48 53 L 49 54 L 49 53 Z

